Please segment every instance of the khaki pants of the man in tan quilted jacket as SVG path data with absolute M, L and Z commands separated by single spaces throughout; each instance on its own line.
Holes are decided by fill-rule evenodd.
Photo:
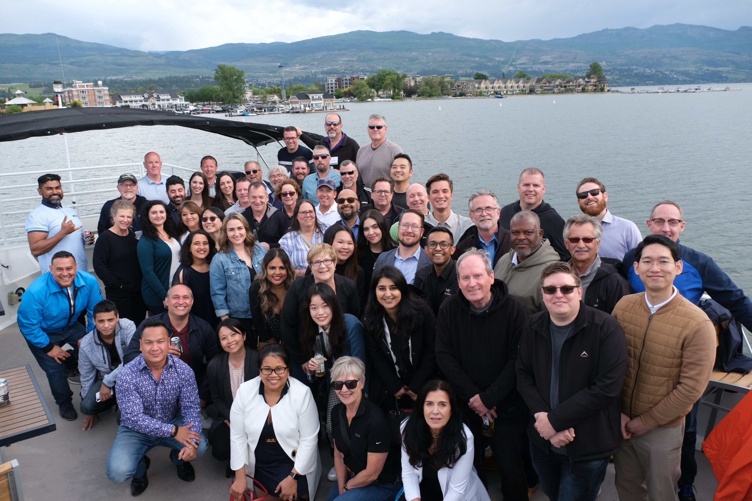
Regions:
M 620 501 L 678 501 L 684 422 L 622 439 L 614 455 L 616 490 Z

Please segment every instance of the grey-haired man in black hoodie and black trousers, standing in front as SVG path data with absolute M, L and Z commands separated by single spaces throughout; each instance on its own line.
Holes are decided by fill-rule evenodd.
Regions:
M 469 249 L 456 264 L 459 292 L 444 300 L 436 321 L 436 361 L 467 402 L 463 421 L 475 442 L 475 468 L 486 483 L 484 441 L 502 472 L 506 501 L 526 501 L 527 481 L 520 455 L 527 409 L 517 393 L 517 345 L 527 319 L 523 303 L 493 279 L 488 254 Z M 484 421 L 493 422 L 484 437 Z

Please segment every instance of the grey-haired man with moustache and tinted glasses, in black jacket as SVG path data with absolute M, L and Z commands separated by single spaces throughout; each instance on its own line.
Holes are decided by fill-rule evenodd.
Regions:
M 572 216 L 564 225 L 564 244 L 582 281 L 583 302 L 610 315 L 623 296 L 632 294 L 632 285 L 617 270 L 619 261 L 599 255 L 602 235 L 599 220 L 587 214 Z

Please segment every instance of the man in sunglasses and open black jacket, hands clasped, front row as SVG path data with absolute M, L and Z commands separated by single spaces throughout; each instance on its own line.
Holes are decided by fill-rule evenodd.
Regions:
M 545 267 L 541 288 L 547 310 L 525 324 L 517 358 L 517 389 L 535 418 L 532 463 L 550 499 L 595 501 L 619 450 L 626 337 L 614 317 L 581 302 L 569 264 Z

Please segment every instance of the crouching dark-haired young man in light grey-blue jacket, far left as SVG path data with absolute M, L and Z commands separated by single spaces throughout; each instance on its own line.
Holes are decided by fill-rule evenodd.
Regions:
M 136 331 L 132 321 L 120 318 L 117 306 L 110 300 L 97 303 L 93 314 L 95 327 L 81 338 L 78 353 L 84 431 L 99 421 L 100 412 L 115 405 L 115 381 Z

